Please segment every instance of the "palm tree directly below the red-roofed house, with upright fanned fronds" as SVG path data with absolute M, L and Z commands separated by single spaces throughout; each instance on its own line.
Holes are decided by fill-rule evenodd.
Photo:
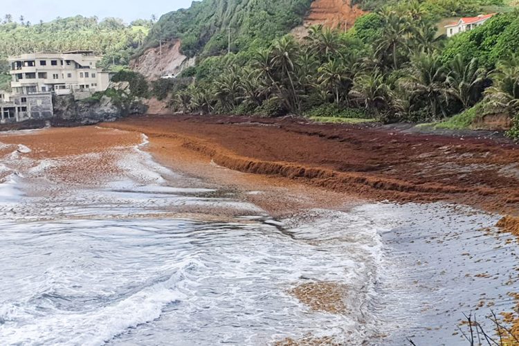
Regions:
M 455 57 L 447 83 L 450 94 L 462 102 L 464 109 L 472 107 L 482 98 L 486 82 L 486 70 L 480 67 L 476 58 L 466 64 L 461 55 Z

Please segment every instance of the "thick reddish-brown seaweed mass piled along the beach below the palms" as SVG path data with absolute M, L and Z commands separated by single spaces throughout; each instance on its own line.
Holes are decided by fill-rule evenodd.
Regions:
M 511 143 L 292 119 L 144 116 L 103 126 L 141 131 L 152 143 L 181 140 L 233 170 L 363 199 L 449 201 L 519 214 L 519 150 Z

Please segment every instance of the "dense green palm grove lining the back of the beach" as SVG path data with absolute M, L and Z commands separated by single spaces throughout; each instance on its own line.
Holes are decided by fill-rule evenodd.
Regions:
M 197 6 L 203 9 L 214 1 L 206 0 Z M 260 2 L 235 1 L 247 6 Z M 236 38 L 231 53 L 224 55 L 226 40 L 222 41 L 221 35 L 228 24 L 233 30 L 230 20 L 240 18 L 242 12 L 235 8 L 230 17 L 224 15 L 225 11 L 211 17 L 218 17 L 218 23 L 175 20 L 169 29 L 165 29 L 171 20 L 168 16 L 181 14 L 165 15 L 148 39 L 154 39 L 159 32 L 184 39 L 197 33 L 193 34 L 197 43 L 184 48 L 189 53 L 198 49 L 200 56 L 197 66 L 185 70 L 183 78 L 159 81 L 161 86 L 156 89 L 163 97 L 167 95 L 165 90 L 172 90 L 173 109 L 197 113 L 291 113 L 412 122 L 456 115 L 456 124 L 488 113 L 516 116 L 517 10 L 495 15 L 484 26 L 447 39 L 438 33 L 441 19 L 477 15 L 485 8 L 488 11 L 506 4 L 502 0 L 358 2 L 374 10 L 358 19 L 351 30 L 314 26 L 307 37 L 297 39 L 277 33 L 286 33 L 297 24 L 296 19 L 284 21 L 287 6 L 303 11 L 308 3 L 281 1 L 277 4 L 285 11 L 276 9 L 271 13 L 283 13 L 282 18 L 271 17 L 272 31 L 261 29 L 269 39 L 262 39 L 262 31 L 252 30 L 251 26 L 240 26 L 247 28 L 242 33 L 250 35 L 251 41 L 240 46 Z M 244 14 L 248 13 L 246 8 Z M 188 12 L 182 15 L 188 16 Z M 257 20 L 251 16 L 249 21 Z M 218 29 L 211 34 L 206 31 L 209 28 Z M 191 51 L 193 47 L 196 49 Z M 192 77 L 196 82 L 186 84 L 185 78 Z M 518 126 L 510 134 L 517 134 Z

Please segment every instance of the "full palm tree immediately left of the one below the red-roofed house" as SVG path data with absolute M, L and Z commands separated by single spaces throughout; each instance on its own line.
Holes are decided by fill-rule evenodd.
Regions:
M 437 55 L 421 53 L 411 61 L 410 76 L 403 78 L 403 86 L 415 103 L 420 98 L 430 106 L 435 118 L 441 113 L 446 116 L 444 103 L 448 95 L 447 74 Z

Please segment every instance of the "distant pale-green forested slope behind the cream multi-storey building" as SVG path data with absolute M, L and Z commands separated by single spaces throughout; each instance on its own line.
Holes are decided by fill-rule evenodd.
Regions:
M 5 89 L 10 80 L 6 75 L 9 55 L 88 50 L 103 55 L 101 66 L 106 69 L 126 66 L 153 24 L 154 19 L 127 25 L 121 19 L 82 16 L 31 24 L 24 17 L 15 20 L 5 15 L 0 24 L 0 89 Z

